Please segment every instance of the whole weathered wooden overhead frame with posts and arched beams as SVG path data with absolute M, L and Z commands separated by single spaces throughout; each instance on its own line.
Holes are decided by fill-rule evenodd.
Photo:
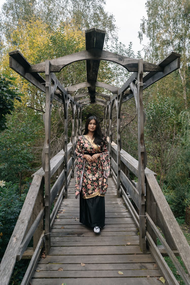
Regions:
M 144 145 L 144 113 L 142 104 L 143 89 L 152 85 L 161 78 L 167 76 L 180 66 L 180 54 L 171 52 L 164 60 L 158 64 L 145 62 L 142 59 L 129 58 L 120 54 L 115 54 L 103 50 L 105 31 L 92 28 L 85 32 L 86 50 L 69 54 L 60 58 L 46 60 L 38 64 L 31 65 L 24 56 L 18 51 L 9 53 L 10 67 L 26 80 L 46 93 L 46 111 L 44 114 L 45 141 L 42 155 L 42 167 L 45 172 L 45 212 L 46 212 L 46 232 L 50 233 L 50 118 L 52 100 L 56 99 L 64 106 L 65 135 L 64 135 L 64 153 L 65 153 L 65 195 L 67 196 L 68 181 L 71 174 L 68 173 L 68 164 L 72 163 L 72 173 L 75 165 L 75 137 L 81 135 L 82 106 L 88 104 L 98 104 L 104 108 L 103 129 L 109 137 L 109 154 L 111 158 L 112 143 L 112 110 L 117 110 L 117 161 L 111 158 L 111 164 L 116 169 L 116 174 L 112 172 L 117 182 L 117 196 L 120 196 L 120 112 L 122 103 L 132 97 L 135 98 L 138 114 L 138 195 L 139 201 L 139 232 L 140 247 L 143 252 L 146 251 L 145 240 L 145 176 L 146 168 L 146 149 Z M 73 86 L 63 86 L 57 79 L 54 72 L 60 72 L 65 66 L 85 60 L 86 61 L 86 82 L 79 82 Z M 128 80 L 121 86 L 113 86 L 105 82 L 98 82 L 98 70 L 100 60 L 107 60 L 120 64 L 129 72 L 133 72 Z M 45 73 L 45 79 L 39 74 Z M 147 72 L 144 76 L 144 72 Z M 111 95 L 96 91 L 96 87 L 109 90 Z M 80 89 L 87 88 L 87 92 L 80 93 Z M 75 93 L 77 92 L 77 94 Z M 72 111 L 72 159 L 68 162 L 68 108 Z M 75 120 L 76 117 L 76 120 Z M 77 126 L 75 128 L 75 121 Z M 109 121 L 109 124 L 108 124 Z M 107 126 L 109 125 L 109 130 Z M 77 129 L 75 133 L 75 129 Z M 70 162 L 71 161 L 71 162 Z M 50 248 L 50 236 L 46 235 L 46 250 Z

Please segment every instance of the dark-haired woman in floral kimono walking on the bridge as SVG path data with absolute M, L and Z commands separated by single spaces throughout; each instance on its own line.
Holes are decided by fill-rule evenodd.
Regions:
M 77 178 L 75 197 L 80 195 L 80 223 L 100 233 L 105 225 L 105 200 L 109 177 L 106 138 L 95 116 L 87 119 L 76 147 Z

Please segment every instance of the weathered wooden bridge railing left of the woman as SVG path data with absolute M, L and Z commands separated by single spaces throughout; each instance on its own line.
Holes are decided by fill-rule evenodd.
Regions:
M 50 213 L 50 227 L 56 217 L 58 208 L 66 194 L 65 173 L 67 184 L 74 174 L 75 165 L 75 146 L 74 143 L 67 144 L 67 167 L 65 171 L 65 153 L 61 150 L 50 160 L 51 177 L 58 176 L 50 192 L 50 207 L 54 203 Z M 67 196 L 67 195 L 65 195 Z M 22 285 L 29 284 L 36 263 L 42 253 L 46 233 L 44 230 L 45 207 L 44 207 L 44 170 L 40 168 L 33 174 L 33 180 L 28 190 L 28 194 L 21 209 L 15 229 L 0 264 L 1 285 L 9 284 L 16 260 L 21 260 L 23 255 L 27 258 L 30 255 L 30 263 L 24 275 Z M 27 249 L 33 237 L 33 248 Z

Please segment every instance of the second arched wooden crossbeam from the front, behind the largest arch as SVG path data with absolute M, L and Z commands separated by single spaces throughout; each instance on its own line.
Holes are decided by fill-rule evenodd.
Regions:
M 107 90 L 109 90 L 112 94 L 117 94 L 117 90 L 118 87 L 107 84 L 107 83 L 103 83 L 103 82 L 99 82 L 99 81 L 95 81 L 95 82 L 83 82 L 83 83 L 79 83 L 73 86 L 69 86 L 67 87 L 67 93 L 68 94 L 72 94 L 73 92 L 75 92 L 78 89 L 81 88 L 85 88 L 85 87 L 89 87 L 89 86 L 96 86 L 96 87 L 101 87 L 101 88 L 105 88 Z

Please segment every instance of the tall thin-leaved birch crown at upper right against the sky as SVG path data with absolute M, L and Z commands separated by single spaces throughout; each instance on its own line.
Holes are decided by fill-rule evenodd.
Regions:
M 139 32 L 149 38 L 144 47 L 145 57 L 158 62 L 171 50 L 181 54 L 179 74 L 183 88 L 185 109 L 188 107 L 187 78 L 190 64 L 190 1 L 189 0 L 147 0 L 147 19 L 143 17 Z

